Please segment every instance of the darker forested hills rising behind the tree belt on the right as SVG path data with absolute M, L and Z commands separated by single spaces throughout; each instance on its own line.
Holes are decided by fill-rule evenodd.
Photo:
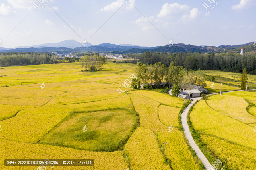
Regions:
M 243 45 L 234 45 L 234 46 L 224 46 L 221 45 L 219 47 L 215 47 L 215 46 L 205 46 L 205 47 L 201 47 L 201 46 L 195 46 L 195 45 L 186 45 L 186 44 L 173 44 L 171 47 L 169 47 L 169 45 L 166 46 L 160 46 L 158 48 L 154 48 L 154 49 L 138 49 L 138 48 L 132 48 L 126 51 L 122 51 L 121 53 L 143 53 L 145 51 L 150 51 L 150 52 L 170 52 L 170 53 L 180 53 L 180 52 L 192 52 L 192 53 L 197 53 L 198 51 L 201 51 L 202 53 L 223 53 L 224 49 L 225 52 L 231 52 L 231 53 L 240 53 L 241 49 L 243 48 L 243 52 L 252 52 L 252 51 L 256 51 L 256 47 L 254 47 L 253 42 L 251 43 L 247 43 L 247 44 L 243 44 Z M 114 51 L 113 53 L 120 53 L 120 51 Z

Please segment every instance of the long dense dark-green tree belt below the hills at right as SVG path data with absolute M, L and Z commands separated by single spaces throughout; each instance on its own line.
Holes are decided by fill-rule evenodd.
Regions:
M 173 61 L 176 66 L 182 66 L 187 70 L 223 70 L 227 72 L 241 73 L 244 68 L 248 74 L 256 75 L 255 53 L 248 56 L 237 53 L 201 54 L 198 53 L 160 53 L 144 52 L 139 61 L 143 64 L 155 64 L 161 62 L 169 66 Z

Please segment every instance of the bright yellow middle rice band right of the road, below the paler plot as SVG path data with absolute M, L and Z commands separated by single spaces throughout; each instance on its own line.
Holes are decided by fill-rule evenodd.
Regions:
M 256 133 L 251 126 L 211 109 L 205 100 L 195 105 L 190 113 L 190 120 L 194 129 L 199 132 L 256 149 Z

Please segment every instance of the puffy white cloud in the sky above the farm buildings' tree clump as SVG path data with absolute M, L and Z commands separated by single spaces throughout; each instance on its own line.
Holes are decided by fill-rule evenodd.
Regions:
M 162 10 L 160 11 L 159 14 L 157 14 L 158 18 L 163 18 L 163 17 L 172 17 L 172 16 L 177 16 L 181 13 L 184 13 L 189 10 L 188 5 L 180 5 L 179 3 L 174 3 L 174 4 L 164 4 L 162 6 Z

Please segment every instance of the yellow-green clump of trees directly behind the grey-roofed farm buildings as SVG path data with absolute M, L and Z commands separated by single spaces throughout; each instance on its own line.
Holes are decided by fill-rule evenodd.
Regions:
M 162 82 L 168 82 L 172 86 L 177 85 L 183 89 L 190 89 L 190 85 L 198 85 L 206 87 L 207 76 L 204 71 L 187 71 L 182 66 L 176 66 L 175 62 L 171 62 L 167 67 L 162 63 L 143 65 L 141 62 L 137 64 L 136 76 L 143 84 L 154 83 L 159 85 Z

